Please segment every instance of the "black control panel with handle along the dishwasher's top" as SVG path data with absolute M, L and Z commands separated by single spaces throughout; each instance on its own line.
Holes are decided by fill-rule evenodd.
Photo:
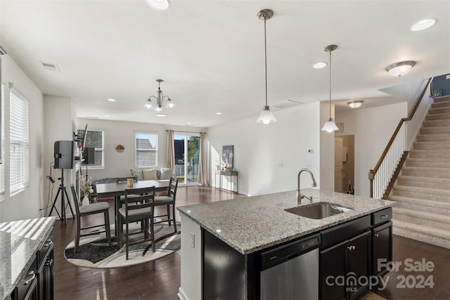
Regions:
M 316 249 L 320 246 L 320 243 L 320 234 L 316 234 L 264 251 L 261 253 L 261 270 L 266 270 L 267 268 L 309 252 L 312 249 Z

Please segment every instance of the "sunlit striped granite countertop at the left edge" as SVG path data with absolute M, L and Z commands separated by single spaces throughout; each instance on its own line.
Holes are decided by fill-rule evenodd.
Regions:
M 56 217 L 0 223 L 0 299 L 11 292 L 30 268 Z

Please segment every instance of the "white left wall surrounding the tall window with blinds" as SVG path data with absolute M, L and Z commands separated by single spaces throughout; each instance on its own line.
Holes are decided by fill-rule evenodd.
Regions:
M 0 200 L 0 222 L 37 218 L 43 195 L 44 100 L 41 91 L 8 55 L 2 56 L 2 76 L 4 82 L 13 82 L 14 88 L 30 101 L 30 186 L 13 196 L 9 195 L 6 187 L 6 193 Z M 7 152 L 8 145 L 4 149 Z M 4 165 L 8 167 L 8 154 L 5 154 Z M 8 173 L 6 170 L 6 175 Z

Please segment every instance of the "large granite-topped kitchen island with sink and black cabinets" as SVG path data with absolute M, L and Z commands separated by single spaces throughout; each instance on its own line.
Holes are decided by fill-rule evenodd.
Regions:
M 314 244 L 320 248 L 320 274 L 317 266 L 317 277 L 321 299 L 330 299 L 326 292 L 328 287 L 323 283 L 325 275 L 330 274 L 326 270 L 327 259 L 336 260 L 336 255 L 342 254 L 334 251 L 340 249 L 338 246 L 341 244 L 343 249 L 348 248 L 345 251 L 352 251 L 356 247 L 348 243 L 358 237 L 356 242 L 366 248 L 364 251 L 370 260 L 377 255 L 373 254 L 372 244 L 375 242 L 372 236 L 379 236 L 376 226 L 383 225 L 387 228 L 381 235 L 387 238 L 384 246 L 387 251 L 383 254 L 388 261 L 392 259 L 390 207 L 394 202 L 311 188 L 302 189 L 302 195 L 312 196 L 313 204 L 327 202 L 351 210 L 323 219 L 298 216 L 286 210 L 311 206 L 311 203 L 302 200 L 302 204 L 297 204 L 296 191 L 179 207 L 183 224 L 180 299 L 264 299 L 261 284 L 264 253 L 278 247 L 289 247 L 293 242 L 308 237 L 317 236 Z M 361 251 L 361 247 L 358 248 Z M 317 251 L 319 253 L 319 249 Z M 338 256 L 338 260 L 345 262 L 342 266 L 345 270 L 354 265 L 347 252 L 340 259 Z M 361 263 L 366 264 L 364 275 L 380 275 L 371 267 L 373 261 L 356 264 Z M 345 275 L 344 270 L 342 273 Z M 332 292 L 338 292 L 336 299 L 351 299 L 367 288 L 356 287 L 352 291 L 349 287 L 342 287 L 340 296 L 338 287 L 333 285 Z

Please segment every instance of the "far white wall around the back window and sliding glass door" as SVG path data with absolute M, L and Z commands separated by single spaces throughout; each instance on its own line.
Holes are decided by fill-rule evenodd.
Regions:
M 167 132 L 190 131 L 200 132 L 205 129 L 191 126 L 171 126 L 161 124 L 148 124 L 137 122 L 119 122 L 99 119 L 77 120 L 77 128 L 84 130 L 87 124 L 88 130 L 105 131 L 105 167 L 103 169 L 88 169 L 88 175 L 92 180 L 110 177 L 125 177 L 130 175 L 130 169 L 135 169 L 135 132 L 154 132 L 158 133 L 158 167 L 167 167 Z M 117 144 L 124 145 L 124 152 L 116 152 Z M 82 167 L 85 172 L 86 167 Z

